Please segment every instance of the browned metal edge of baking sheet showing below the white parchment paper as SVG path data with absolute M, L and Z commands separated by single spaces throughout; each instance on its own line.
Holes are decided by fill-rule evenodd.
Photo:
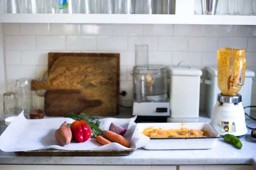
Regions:
M 132 154 L 135 149 L 127 150 L 32 150 L 14 152 L 17 156 L 125 156 Z

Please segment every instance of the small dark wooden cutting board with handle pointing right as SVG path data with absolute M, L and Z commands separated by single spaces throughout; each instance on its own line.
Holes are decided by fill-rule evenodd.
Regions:
M 44 111 L 47 116 L 66 116 L 73 112 L 79 114 L 87 107 L 97 107 L 101 100 L 88 100 L 80 90 L 56 89 L 45 92 Z

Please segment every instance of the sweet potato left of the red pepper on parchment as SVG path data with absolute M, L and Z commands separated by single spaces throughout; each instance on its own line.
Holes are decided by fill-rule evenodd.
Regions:
M 72 139 L 72 132 L 67 126 L 67 122 L 64 122 L 57 130 L 55 130 L 54 136 L 59 144 L 70 144 Z

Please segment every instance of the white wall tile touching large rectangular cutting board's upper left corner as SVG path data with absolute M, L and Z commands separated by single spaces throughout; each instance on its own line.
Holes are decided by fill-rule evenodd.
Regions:
M 47 51 L 21 51 L 21 65 L 47 65 Z

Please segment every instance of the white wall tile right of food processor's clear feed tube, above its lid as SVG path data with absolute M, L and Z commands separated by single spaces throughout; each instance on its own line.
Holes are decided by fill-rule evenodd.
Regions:
M 149 64 L 172 65 L 172 52 L 149 52 Z

